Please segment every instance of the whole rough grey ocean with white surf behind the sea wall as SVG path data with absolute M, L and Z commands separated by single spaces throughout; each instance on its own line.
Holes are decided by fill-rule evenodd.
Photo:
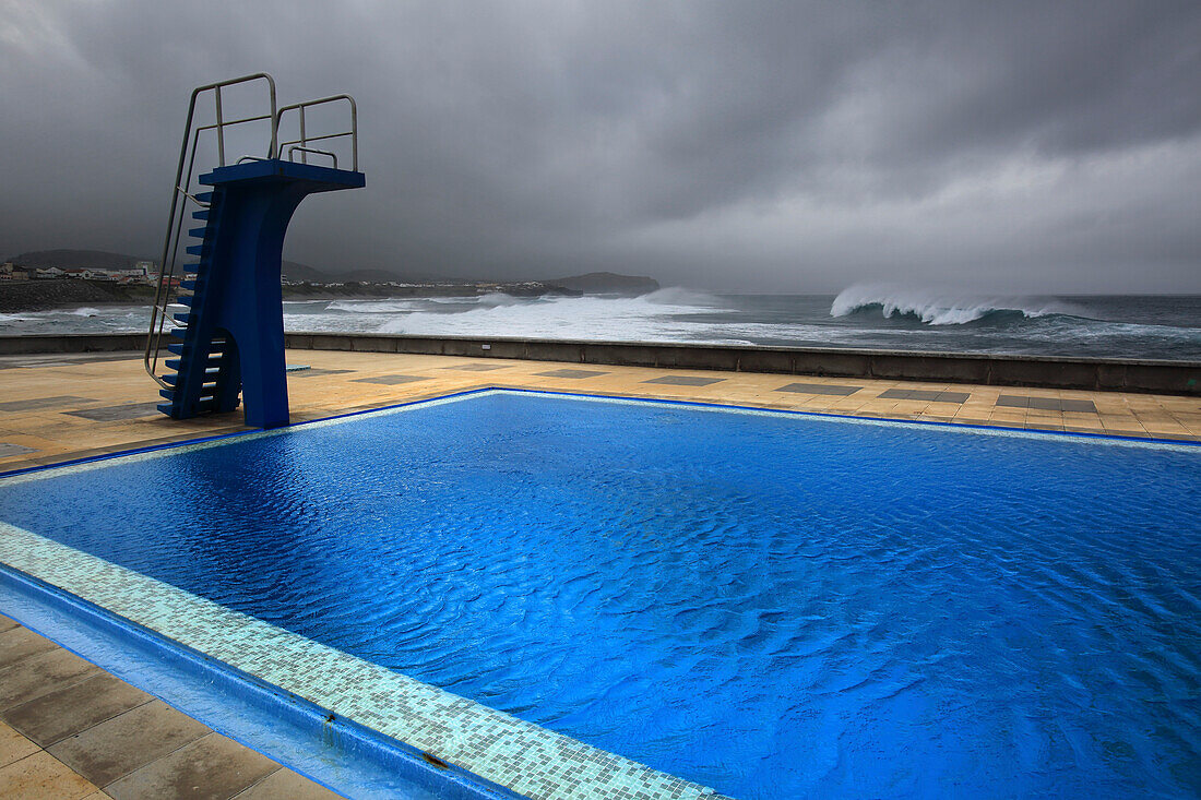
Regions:
M 0 335 L 142 332 L 145 306 L 0 314 Z M 293 332 L 516 336 L 1201 360 L 1201 295 L 976 295 L 854 286 L 837 295 L 402 298 L 283 304 Z

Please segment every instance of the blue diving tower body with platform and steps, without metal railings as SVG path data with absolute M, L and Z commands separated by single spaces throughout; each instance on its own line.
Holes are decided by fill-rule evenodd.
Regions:
M 203 232 L 203 244 L 189 249 L 201 261 L 192 308 L 181 315 L 186 328 L 171 416 L 233 411 L 240 384 L 247 425 L 286 425 L 283 235 L 307 195 L 362 187 L 364 175 L 264 159 L 220 167 L 199 181 L 213 192 L 208 211 L 196 215 L 208 220 L 193 232 Z

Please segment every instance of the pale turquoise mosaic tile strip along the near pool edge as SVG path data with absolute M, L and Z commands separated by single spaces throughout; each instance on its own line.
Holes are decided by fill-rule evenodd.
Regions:
M 0 561 L 528 798 L 719 796 L 7 523 Z

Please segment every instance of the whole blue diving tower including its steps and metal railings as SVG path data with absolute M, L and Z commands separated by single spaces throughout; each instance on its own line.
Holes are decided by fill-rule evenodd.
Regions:
M 263 114 L 222 119 L 223 88 L 262 82 L 269 92 Z M 216 121 L 193 127 L 197 97 L 213 92 Z M 305 111 L 325 103 L 346 103 L 349 127 L 309 136 Z M 280 142 L 280 121 L 294 112 L 299 137 Z M 267 123 L 267 156 L 241 156 L 226 163 L 225 130 Z M 217 163 L 197 178 L 205 191 L 190 191 L 202 132 L 214 132 Z M 313 147 L 347 141 L 351 169 L 337 167 L 337 154 Z M 309 163 L 310 157 L 330 166 Z M 172 192 L 167 238 L 147 339 L 145 368 L 166 402 L 159 410 L 173 419 L 234 411 L 241 398 L 245 422 L 252 428 L 288 424 L 288 390 L 283 360 L 283 295 L 281 258 L 292 214 L 306 196 L 359 189 L 365 179 L 358 165 L 358 114 L 349 95 L 322 97 L 276 108 L 275 82 L 257 73 L 199 86 L 192 92 L 187 125 Z M 186 174 L 185 174 L 186 167 Z M 197 227 L 183 227 L 191 209 Z M 192 257 L 178 263 L 179 250 Z M 169 324 L 169 327 L 168 327 Z M 171 370 L 160 375 L 160 356 Z

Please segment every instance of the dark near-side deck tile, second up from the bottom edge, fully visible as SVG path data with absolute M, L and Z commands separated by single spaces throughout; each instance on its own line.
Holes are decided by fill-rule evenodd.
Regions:
M 151 700 L 47 750 L 102 787 L 210 733 L 162 700 Z

